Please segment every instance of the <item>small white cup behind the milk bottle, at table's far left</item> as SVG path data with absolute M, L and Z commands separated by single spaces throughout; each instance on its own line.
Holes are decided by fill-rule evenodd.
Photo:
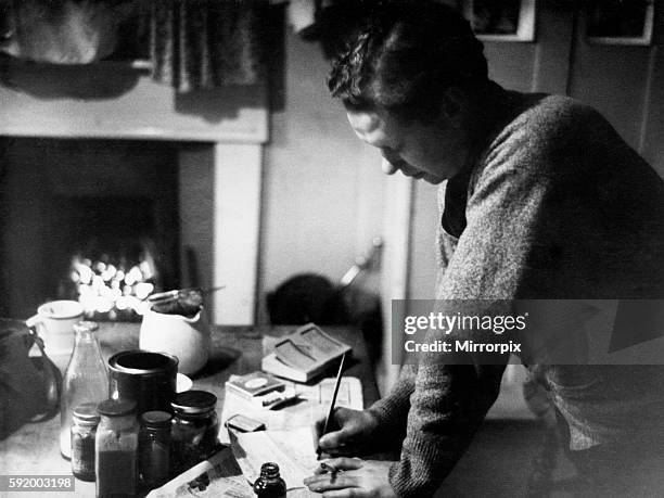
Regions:
M 74 323 L 84 318 L 84 307 L 76 301 L 52 301 L 37 308 L 25 323 L 36 329 L 50 355 L 71 355 L 74 350 Z

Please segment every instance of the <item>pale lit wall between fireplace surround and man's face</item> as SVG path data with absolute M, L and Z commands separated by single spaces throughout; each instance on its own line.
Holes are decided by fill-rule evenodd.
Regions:
M 384 176 L 327 90 L 329 64 L 290 29 L 285 103 L 266 148 L 259 298 L 301 272 L 339 280 L 381 234 Z

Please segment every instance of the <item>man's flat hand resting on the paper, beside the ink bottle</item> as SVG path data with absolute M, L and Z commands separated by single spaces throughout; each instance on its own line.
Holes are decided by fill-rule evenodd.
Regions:
M 333 458 L 325 460 L 325 464 L 335 471 L 317 469 L 314 475 L 304 480 L 304 484 L 314 493 L 322 493 L 324 498 L 392 498 L 396 497 L 387 478 L 392 463 Z

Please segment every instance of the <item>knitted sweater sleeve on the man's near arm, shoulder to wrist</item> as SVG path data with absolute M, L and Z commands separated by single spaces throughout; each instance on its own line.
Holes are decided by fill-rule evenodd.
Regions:
M 550 174 L 557 161 L 557 154 L 548 150 L 551 141 L 534 139 L 532 128 L 526 129 L 516 124 L 509 132 L 503 130 L 484 157 L 468 200 L 467 227 L 438 283 L 438 303 L 513 299 L 522 296 L 526 280 L 533 277 L 534 255 L 548 246 L 545 213 L 556 213 L 551 209 L 561 196 L 556 175 Z M 506 341 L 506 334 L 491 331 L 429 334 L 427 342 Z M 509 359 L 508 355 L 449 355 L 420 356 L 400 461 L 390 470 L 398 496 L 422 497 L 436 490 L 495 401 Z

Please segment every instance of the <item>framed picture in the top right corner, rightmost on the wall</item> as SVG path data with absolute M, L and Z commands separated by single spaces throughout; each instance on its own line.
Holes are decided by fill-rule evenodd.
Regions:
M 586 39 L 603 44 L 650 44 L 653 0 L 589 0 Z

